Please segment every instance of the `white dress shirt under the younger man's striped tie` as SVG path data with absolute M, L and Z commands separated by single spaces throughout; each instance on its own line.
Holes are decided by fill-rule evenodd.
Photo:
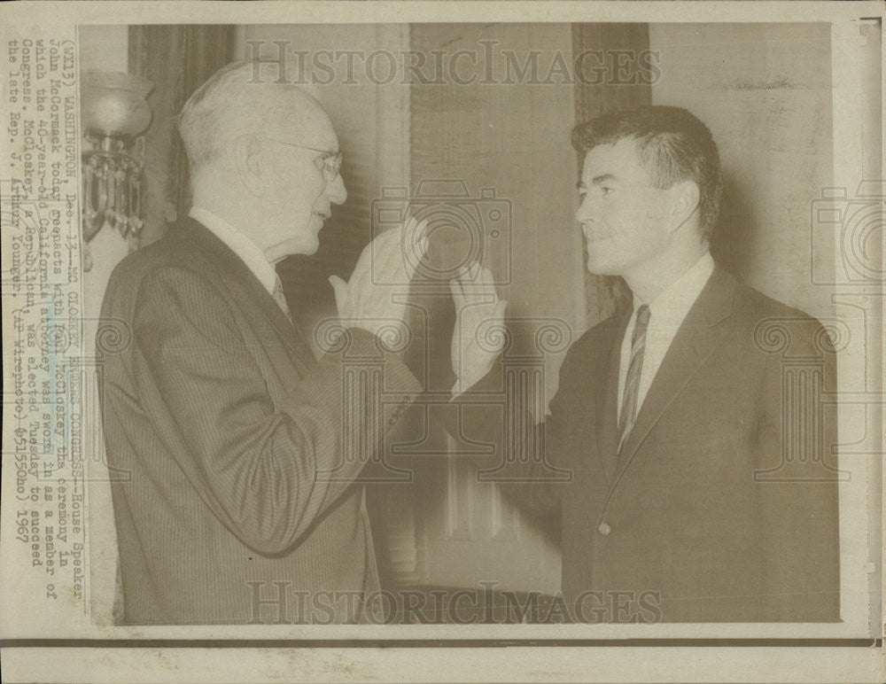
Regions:
M 664 361 L 664 354 L 670 348 L 677 330 L 686 320 L 689 309 L 696 303 L 714 270 L 711 253 L 696 261 L 696 264 L 674 281 L 651 302 L 642 302 L 639 297 L 633 298 L 633 314 L 627 323 L 625 338 L 621 343 L 621 357 L 618 366 L 618 418 L 621 416 L 621 404 L 625 393 L 627 367 L 631 362 L 631 338 L 637 323 L 637 309 L 642 304 L 649 304 L 649 327 L 646 330 L 646 346 L 643 350 L 643 366 L 640 375 L 640 387 L 637 393 L 637 413 L 649 392 L 649 385 L 656 377 L 658 368 Z

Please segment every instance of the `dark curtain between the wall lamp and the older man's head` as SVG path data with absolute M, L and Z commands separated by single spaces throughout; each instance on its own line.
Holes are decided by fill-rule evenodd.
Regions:
M 129 27 L 129 70 L 154 84 L 153 119 L 145 137 L 144 229 L 141 245 L 161 237 L 167 223 L 190 209 L 188 159 L 175 117 L 190 94 L 233 58 L 232 26 Z

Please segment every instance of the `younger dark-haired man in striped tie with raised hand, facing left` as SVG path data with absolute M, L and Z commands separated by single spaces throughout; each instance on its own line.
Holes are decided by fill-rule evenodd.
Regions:
M 722 177 L 711 133 L 686 110 L 645 107 L 573 130 L 587 268 L 622 276 L 633 307 L 571 347 L 543 426 L 502 453 L 505 491 L 558 512 L 563 595 L 578 619 L 602 595 L 656 596 L 682 622 L 838 620 L 835 390 L 828 335 L 711 259 Z M 462 328 L 501 318 L 465 306 Z M 476 288 L 476 283 L 471 283 Z M 469 320 L 470 317 L 470 320 Z M 470 339 L 464 334 L 463 339 Z M 457 388 L 488 389 L 494 349 L 466 345 Z M 458 402 L 470 401 L 469 389 Z M 474 407 L 470 439 L 501 445 Z M 549 465 L 571 473 L 551 482 Z M 546 483 L 547 480 L 547 483 Z M 592 618 L 592 615 L 596 615 Z M 617 615 L 604 619 L 618 620 Z

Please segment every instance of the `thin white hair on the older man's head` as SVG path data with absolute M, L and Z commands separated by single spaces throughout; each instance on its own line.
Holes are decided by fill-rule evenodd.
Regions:
M 277 63 L 234 62 L 222 66 L 188 98 L 178 130 L 190 162 L 190 173 L 211 162 L 234 137 L 298 128 L 299 113 L 319 107 L 319 93 L 309 85 L 277 82 L 284 74 Z M 304 96 L 298 106 L 293 94 Z

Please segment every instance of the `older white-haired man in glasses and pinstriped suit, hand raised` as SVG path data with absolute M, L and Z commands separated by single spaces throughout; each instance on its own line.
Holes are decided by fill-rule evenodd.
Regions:
M 350 282 L 332 279 L 342 332 L 317 360 L 274 267 L 315 253 L 347 197 L 329 117 L 235 64 L 179 128 L 193 208 L 120 263 L 103 307 L 131 330 L 100 381 L 108 462 L 129 474 L 113 486 L 123 619 L 285 624 L 315 618 L 322 596 L 324 621 L 358 621 L 378 579 L 355 480 L 421 390 L 380 339 L 405 307 L 370 271 L 408 280 L 400 241 L 424 253 L 424 225 L 378 237 Z M 383 369 L 384 404 L 348 384 L 347 358 Z

